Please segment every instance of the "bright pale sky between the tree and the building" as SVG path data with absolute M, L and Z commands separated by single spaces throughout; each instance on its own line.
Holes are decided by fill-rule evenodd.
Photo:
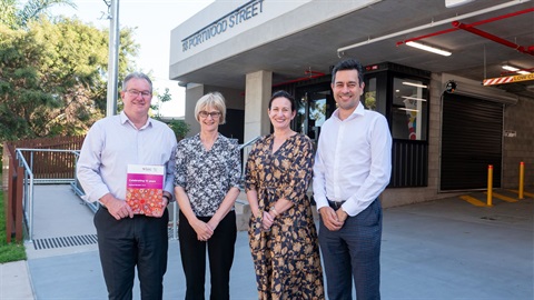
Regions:
M 154 89 L 160 93 L 169 88 L 172 100 L 164 103 L 164 117 L 185 114 L 185 89 L 169 79 L 170 31 L 215 0 L 119 0 L 120 27 L 137 28 L 134 39 L 140 44 L 136 58 L 138 71 L 150 72 Z M 103 0 L 73 0 L 77 8 L 55 6 L 53 16 L 77 16 L 97 28 L 109 28 L 108 7 Z M 111 2 L 108 0 L 107 2 Z M 120 87 L 119 87 L 120 88 Z M 152 99 L 152 104 L 157 102 Z

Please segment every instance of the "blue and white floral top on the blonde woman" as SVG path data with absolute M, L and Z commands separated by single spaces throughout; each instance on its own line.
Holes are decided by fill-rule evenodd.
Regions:
M 230 188 L 239 189 L 241 158 L 236 139 L 219 133 L 208 151 L 197 133 L 178 142 L 175 159 L 175 187 L 184 188 L 197 217 L 214 216 Z

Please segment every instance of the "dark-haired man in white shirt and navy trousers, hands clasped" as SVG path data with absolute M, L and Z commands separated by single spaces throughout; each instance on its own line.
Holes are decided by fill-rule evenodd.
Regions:
M 314 166 L 319 244 L 330 300 L 380 299 L 382 207 L 389 183 L 392 136 L 383 114 L 365 110 L 362 64 L 339 62 L 332 90 L 337 109 L 323 124 Z

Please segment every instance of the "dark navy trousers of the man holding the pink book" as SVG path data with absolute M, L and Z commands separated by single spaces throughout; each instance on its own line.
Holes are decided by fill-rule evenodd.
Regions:
M 117 221 L 100 208 L 93 221 L 109 299 L 132 299 L 136 266 L 141 299 L 162 299 L 169 248 L 168 210 L 161 218 L 136 214 Z

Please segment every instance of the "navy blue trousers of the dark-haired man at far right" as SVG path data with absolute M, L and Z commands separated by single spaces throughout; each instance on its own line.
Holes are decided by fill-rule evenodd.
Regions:
M 353 278 L 358 300 L 380 299 L 380 240 L 378 199 L 355 217 L 348 217 L 338 231 L 328 230 L 320 220 L 319 244 L 328 299 L 350 300 Z

